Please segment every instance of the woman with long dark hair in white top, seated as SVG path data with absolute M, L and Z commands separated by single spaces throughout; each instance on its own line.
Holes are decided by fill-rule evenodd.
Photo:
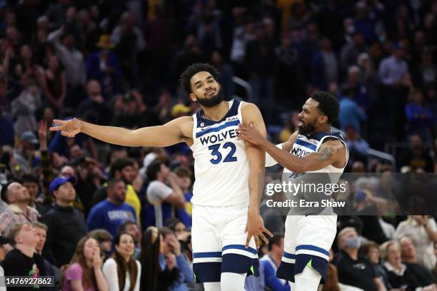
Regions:
M 103 272 L 109 291 L 138 291 L 141 264 L 134 260 L 134 238 L 129 233 L 119 233 L 115 239 L 114 254 L 104 263 Z

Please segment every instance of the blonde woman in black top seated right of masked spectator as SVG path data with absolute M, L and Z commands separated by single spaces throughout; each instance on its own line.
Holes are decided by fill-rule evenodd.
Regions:
M 398 242 L 394 240 L 384 242 L 381 245 L 381 257 L 385 260 L 383 266 L 387 271 L 388 282 L 394 289 L 415 291 L 416 288 L 422 287 L 420 290 L 423 291 L 436 290 L 435 283 L 418 280 L 418 277 L 409 270 L 408 265 L 401 262 L 401 247 Z

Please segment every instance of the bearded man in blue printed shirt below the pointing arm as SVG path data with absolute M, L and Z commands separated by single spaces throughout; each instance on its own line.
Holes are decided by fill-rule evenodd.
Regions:
M 135 210 L 124 203 L 126 199 L 126 184 L 121 179 L 110 180 L 107 188 L 108 199 L 94 205 L 89 212 L 86 225 L 89 230 L 103 228 L 116 237 L 119 225 L 126 220 L 136 222 Z

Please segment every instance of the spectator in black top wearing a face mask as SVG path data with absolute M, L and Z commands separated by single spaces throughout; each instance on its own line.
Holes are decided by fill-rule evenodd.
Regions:
M 333 264 L 338 269 L 338 281 L 343 285 L 358 287 L 366 291 L 386 290 L 377 277 L 371 262 L 358 255 L 361 242 L 355 228 L 343 228 L 338 233 L 338 253 Z

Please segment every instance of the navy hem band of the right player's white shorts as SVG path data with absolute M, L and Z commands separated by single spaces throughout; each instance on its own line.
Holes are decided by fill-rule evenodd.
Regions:
M 326 282 L 326 274 L 328 272 L 328 260 L 316 255 L 299 254 L 296 255 L 296 262 L 289 263 L 281 261 L 278 270 L 276 271 L 276 277 L 294 282 L 294 276 L 303 272 L 303 269 L 311 261 L 311 268 L 316 270 L 321 277 L 321 284 Z

